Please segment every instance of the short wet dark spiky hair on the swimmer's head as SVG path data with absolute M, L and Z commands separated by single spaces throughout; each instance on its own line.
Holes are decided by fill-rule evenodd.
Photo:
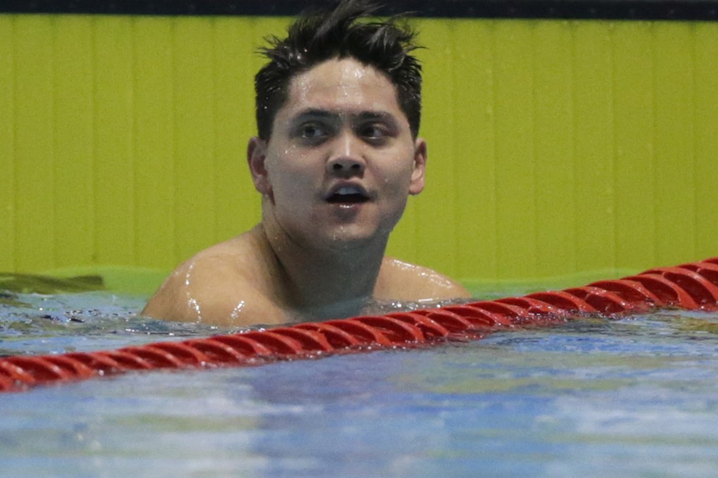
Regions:
M 341 0 L 335 9 L 299 16 L 286 38 L 266 38 L 269 46 L 259 51 L 269 63 L 254 78 L 261 139 L 269 140 L 292 78 L 333 58 L 353 58 L 386 75 L 396 88 L 398 105 L 416 138 L 421 120 L 421 65 L 411 55 L 419 48 L 414 43 L 416 33 L 396 17 L 357 21 L 378 8 L 373 1 Z

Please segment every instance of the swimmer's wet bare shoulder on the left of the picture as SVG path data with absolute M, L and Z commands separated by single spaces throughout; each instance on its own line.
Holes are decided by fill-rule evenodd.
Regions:
M 142 315 L 212 325 L 284 321 L 267 297 L 251 246 L 242 236 L 195 255 L 167 277 Z

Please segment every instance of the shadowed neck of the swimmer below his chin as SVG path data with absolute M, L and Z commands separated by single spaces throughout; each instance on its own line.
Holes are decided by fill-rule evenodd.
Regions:
M 300 315 L 358 315 L 373 297 L 388 238 L 313 247 L 298 244 L 274 221 L 257 229 L 276 258 L 286 305 Z

